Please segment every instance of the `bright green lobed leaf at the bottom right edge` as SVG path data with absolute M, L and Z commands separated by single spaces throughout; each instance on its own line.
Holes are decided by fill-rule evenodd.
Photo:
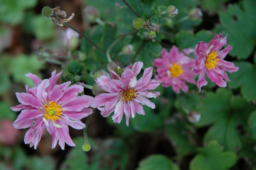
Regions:
M 207 147 L 198 149 L 200 153 L 190 162 L 190 169 L 228 170 L 236 164 L 238 158 L 234 152 L 222 150 L 217 141 L 210 141 Z

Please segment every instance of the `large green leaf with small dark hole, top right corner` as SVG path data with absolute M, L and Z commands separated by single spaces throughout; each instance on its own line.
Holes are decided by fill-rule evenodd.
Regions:
M 255 6 L 255 0 L 244 0 L 244 11 L 237 5 L 229 5 L 227 11 L 219 13 L 220 23 L 228 34 L 228 44 L 233 47 L 229 54 L 238 59 L 247 59 L 255 46 Z

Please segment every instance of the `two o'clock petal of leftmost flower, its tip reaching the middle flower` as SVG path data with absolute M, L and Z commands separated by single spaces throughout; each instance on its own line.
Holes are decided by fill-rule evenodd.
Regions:
M 76 97 L 75 100 L 72 100 L 70 102 L 67 102 L 65 104 L 62 104 L 61 107 L 63 110 L 69 110 L 69 111 L 76 111 L 76 112 L 81 112 L 82 109 L 85 107 L 89 107 L 91 105 L 91 101 L 93 97 L 87 96 L 87 95 L 82 95 Z

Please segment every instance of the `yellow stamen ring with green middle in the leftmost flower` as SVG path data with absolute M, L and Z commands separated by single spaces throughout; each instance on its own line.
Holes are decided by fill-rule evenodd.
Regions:
M 48 102 L 48 104 L 44 104 L 44 118 L 46 120 L 60 120 L 61 119 L 61 114 L 64 112 L 63 108 L 61 107 L 60 104 L 58 104 L 58 102 L 53 102 L 50 101 Z

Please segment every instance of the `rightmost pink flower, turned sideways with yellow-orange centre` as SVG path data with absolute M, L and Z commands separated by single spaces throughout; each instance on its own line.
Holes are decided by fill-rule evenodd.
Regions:
M 226 81 L 230 80 L 228 79 L 228 74 L 225 73 L 225 71 L 233 73 L 239 69 L 239 67 L 235 67 L 234 63 L 224 60 L 232 47 L 231 45 L 228 45 L 226 48 L 221 50 L 222 47 L 227 44 L 227 35 L 223 38 L 222 34 L 215 34 L 209 44 L 200 42 L 195 47 L 194 51 L 197 58 L 194 62 L 194 67 L 191 73 L 200 74 L 197 81 L 199 91 L 201 91 L 202 86 L 207 85 L 207 81 L 204 78 L 205 73 L 211 81 L 215 82 L 218 86 L 226 87 Z

